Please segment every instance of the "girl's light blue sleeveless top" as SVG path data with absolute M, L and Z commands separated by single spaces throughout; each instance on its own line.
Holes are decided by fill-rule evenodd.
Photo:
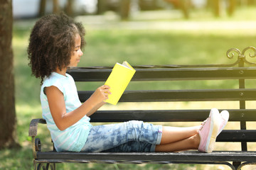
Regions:
M 75 86 L 75 81 L 69 74 L 63 76 L 53 72 L 50 74 L 50 77 L 47 77 L 43 81 L 40 98 L 43 110 L 43 118 L 46 119 L 47 128 L 50 130 L 50 135 L 57 152 L 80 152 L 82 147 L 85 145 L 90 132 L 90 128 L 92 128 L 92 125 L 90 124 L 90 118 L 85 115 L 82 119 L 80 119 L 77 123 L 70 126 L 69 128 L 63 131 L 59 130 L 54 123 L 52 115 L 50 114 L 47 96 L 43 92 L 43 89 L 48 86 L 56 86 L 63 93 L 65 108 L 67 113 L 69 113 L 70 111 L 73 111 L 81 106 L 81 102 L 78 98 L 78 91 Z

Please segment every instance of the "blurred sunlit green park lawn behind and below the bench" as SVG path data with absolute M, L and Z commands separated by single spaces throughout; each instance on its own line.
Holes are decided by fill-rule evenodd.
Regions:
M 137 4 L 136 4 L 137 2 Z M 228 12 L 231 1 L 220 1 L 218 15 L 201 0 L 201 6 L 190 4 L 189 15 L 176 4 L 166 1 L 154 1 L 148 6 L 139 6 L 138 1 L 132 1 L 129 17 L 122 18 L 117 7 L 105 8 L 100 14 L 97 11 L 82 11 L 75 13 L 73 18 L 84 24 L 87 34 L 87 46 L 78 67 L 113 66 L 115 62 L 127 60 L 132 65 L 154 64 L 230 64 L 234 61 L 225 56 L 225 52 L 236 47 L 243 50 L 255 46 L 256 35 L 256 3 L 255 1 L 237 1 L 233 13 Z M 157 4 L 157 3 L 158 4 Z M 191 2 L 191 1 L 190 1 Z M 192 1 L 193 2 L 193 1 Z M 197 1 L 198 2 L 198 1 Z M 21 3 L 21 1 L 19 1 Z M 153 3 L 153 1 L 151 1 Z M 16 86 L 17 136 L 21 149 L 4 149 L 0 151 L 0 169 L 33 169 L 31 138 L 28 137 L 28 126 L 32 118 L 41 118 L 39 99 L 40 80 L 31 77 L 28 67 L 26 48 L 28 37 L 36 22 L 33 14 L 17 14 L 18 0 L 14 1 L 14 72 Z M 49 4 L 49 2 L 48 2 Z M 164 4 L 164 5 L 163 5 Z M 27 6 L 27 4 L 23 3 Z M 99 6 L 98 6 L 99 7 Z M 48 7 L 51 8 L 51 7 Z M 64 7 L 63 7 L 64 8 Z M 97 3 L 96 7 L 97 8 Z M 92 10 L 92 9 L 91 9 Z M 33 10 L 31 10 L 33 11 Z M 45 13 L 52 11 L 46 10 Z M 96 15 L 97 14 L 97 15 Z M 252 59 L 253 60 L 253 59 Z M 103 84 L 78 84 L 78 89 L 94 90 Z M 255 82 L 249 82 L 254 87 Z M 146 86 L 146 87 L 145 87 Z M 218 86 L 221 88 L 235 87 L 232 81 L 198 81 L 191 84 L 177 82 L 161 82 L 137 86 L 129 85 L 129 89 L 193 89 Z M 122 104 L 119 104 L 122 106 Z M 181 107 L 188 106 L 181 103 Z M 252 104 L 253 105 L 253 104 Z M 124 107 L 131 107 L 129 104 Z M 134 105 L 133 105 L 134 106 Z M 223 106 L 223 103 L 216 103 Z M 117 106 L 118 107 L 118 106 Z M 146 103 L 144 106 L 147 107 Z M 158 108 L 161 106 L 157 106 Z M 202 106 L 196 106 L 201 108 Z M 204 106 L 205 107 L 205 106 Z M 223 106 L 223 107 L 226 107 Z M 233 107 L 229 106 L 230 108 Z M 112 109 L 112 106 L 105 106 Z M 113 108 L 116 109 L 116 108 Z M 41 140 L 48 149 L 50 134 L 46 127 L 40 126 Z M 255 147 L 255 146 L 252 146 Z M 120 164 L 58 164 L 58 169 L 228 169 L 225 166 L 211 165 L 120 165 Z

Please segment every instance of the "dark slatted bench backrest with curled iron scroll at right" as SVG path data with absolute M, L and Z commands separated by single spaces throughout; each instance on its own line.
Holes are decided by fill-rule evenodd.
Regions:
M 238 101 L 238 108 L 228 109 L 230 121 L 240 122 L 238 130 L 225 130 L 218 136 L 219 142 L 241 142 L 242 150 L 247 150 L 246 142 L 256 142 L 253 132 L 246 130 L 247 121 L 256 121 L 256 109 L 247 109 L 245 101 L 256 100 L 256 89 L 245 89 L 247 79 L 256 79 L 256 67 L 244 67 L 245 64 L 254 64 L 246 60 L 247 47 L 240 52 L 230 49 L 228 57 L 233 58 L 236 52 L 238 60 L 233 64 L 207 64 L 207 65 L 160 65 L 160 66 L 134 66 L 137 70 L 132 81 L 136 82 L 135 90 L 127 90 L 119 102 L 166 102 L 166 101 Z M 230 55 L 231 53 L 231 55 Z M 253 57 L 250 55 L 250 57 Z M 106 81 L 112 67 L 83 67 L 69 70 L 75 81 Z M 219 88 L 214 86 L 216 81 L 235 81 L 232 86 Z M 174 81 L 210 81 L 207 88 L 194 89 L 158 89 L 156 82 Z M 145 82 L 149 87 L 145 88 Z M 139 83 L 142 83 L 140 85 Z M 156 84 L 155 84 L 156 83 Z M 141 87 L 142 89 L 140 89 Z M 194 86 L 193 86 L 194 87 Z M 97 86 L 95 86 L 97 88 Z M 78 91 L 80 101 L 84 102 L 93 91 Z M 97 111 L 91 116 L 91 122 L 123 122 L 127 120 L 143 120 L 145 122 L 188 122 L 203 121 L 207 118 L 209 109 L 186 110 L 124 110 L 124 111 Z

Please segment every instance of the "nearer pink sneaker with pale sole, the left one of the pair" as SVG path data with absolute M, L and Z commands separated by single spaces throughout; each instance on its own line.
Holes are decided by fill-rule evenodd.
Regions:
M 217 108 L 210 110 L 209 118 L 207 118 L 199 130 L 200 144 L 198 151 L 213 152 L 215 140 L 220 129 L 220 113 Z

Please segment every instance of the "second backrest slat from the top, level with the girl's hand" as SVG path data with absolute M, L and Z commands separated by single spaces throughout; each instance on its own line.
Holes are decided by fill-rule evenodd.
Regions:
M 81 102 L 93 91 L 78 91 Z M 119 102 L 151 101 L 255 101 L 256 89 L 205 89 L 169 91 L 124 91 Z

